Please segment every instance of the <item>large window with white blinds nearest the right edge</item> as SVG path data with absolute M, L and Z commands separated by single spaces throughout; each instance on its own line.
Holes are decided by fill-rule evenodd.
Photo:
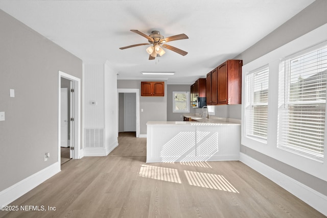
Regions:
M 279 68 L 278 146 L 322 159 L 327 46 L 289 57 Z

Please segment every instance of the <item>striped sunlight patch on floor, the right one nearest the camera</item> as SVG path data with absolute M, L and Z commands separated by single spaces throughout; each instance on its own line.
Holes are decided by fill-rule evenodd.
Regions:
M 193 171 L 184 171 L 184 173 L 190 185 L 240 193 L 221 175 Z

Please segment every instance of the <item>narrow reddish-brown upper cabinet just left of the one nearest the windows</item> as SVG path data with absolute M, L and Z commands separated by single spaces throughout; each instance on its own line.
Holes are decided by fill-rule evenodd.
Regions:
M 218 74 L 217 68 L 206 75 L 206 105 L 217 105 Z

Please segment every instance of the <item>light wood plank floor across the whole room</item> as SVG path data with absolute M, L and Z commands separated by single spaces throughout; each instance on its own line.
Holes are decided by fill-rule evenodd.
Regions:
M 11 203 L 55 211 L 0 217 L 325 217 L 239 161 L 146 164 L 145 151 L 122 134 L 109 156 L 68 161 Z

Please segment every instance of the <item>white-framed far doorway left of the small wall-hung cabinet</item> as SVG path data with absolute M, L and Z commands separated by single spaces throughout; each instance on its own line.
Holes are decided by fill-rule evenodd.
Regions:
M 139 89 L 117 89 L 118 132 L 135 132 L 139 137 Z

